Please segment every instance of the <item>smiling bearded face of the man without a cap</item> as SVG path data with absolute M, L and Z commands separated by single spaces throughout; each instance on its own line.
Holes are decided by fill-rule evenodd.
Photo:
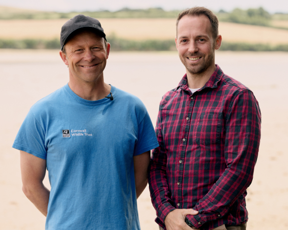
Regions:
M 180 19 L 175 42 L 187 74 L 202 75 L 209 68 L 215 68 L 215 49 L 220 47 L 215 47 L 216 40 L 206 15 L 185 15 Z

